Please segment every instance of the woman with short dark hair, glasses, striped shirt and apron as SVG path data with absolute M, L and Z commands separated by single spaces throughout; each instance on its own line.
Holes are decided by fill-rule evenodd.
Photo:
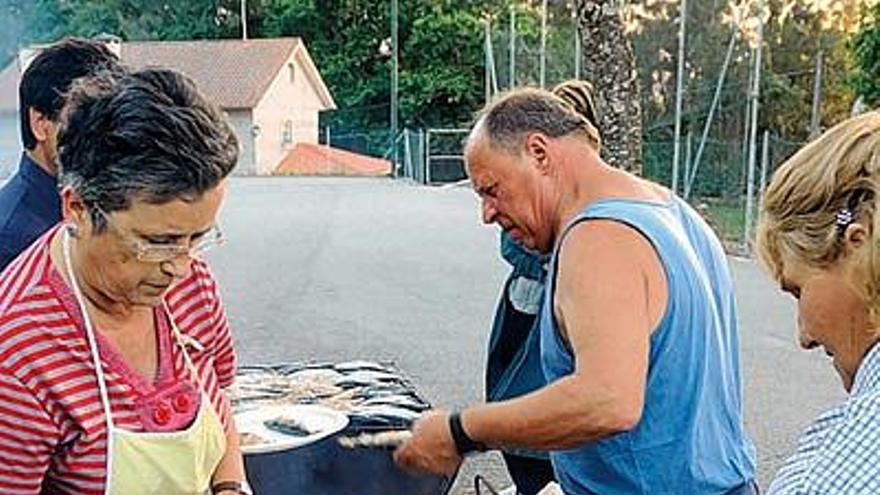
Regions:
M 64 220 L 0 274 L 0 493 L 246 493 L 235 354 L 196 257 L 221 240 L 236 138 L 172 71 L 69 98 Z

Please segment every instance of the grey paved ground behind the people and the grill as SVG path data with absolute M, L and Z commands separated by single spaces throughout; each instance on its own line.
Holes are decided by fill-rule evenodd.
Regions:
M 505 266 L 466 188 L 382 179 L 236 179 L 211 261 L 243 363 L 393 360 L 435 404 L 482 396 L 487 331 Z M 741 309 L 747 423 L 767 482 L 799 431 L 842 390 L 796 348 L 794 305 L 731 260 Z M 498 458 L 469 461 L 503 482 Z

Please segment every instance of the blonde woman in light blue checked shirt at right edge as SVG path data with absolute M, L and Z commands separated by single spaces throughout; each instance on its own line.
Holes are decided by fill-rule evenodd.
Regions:
M 880 113 L 843 122 L 774 174 L 758 252 L 798 301 L 799 341 L 831 357 L 849 398 L 807 428 L 771 495 L 880 493 Z

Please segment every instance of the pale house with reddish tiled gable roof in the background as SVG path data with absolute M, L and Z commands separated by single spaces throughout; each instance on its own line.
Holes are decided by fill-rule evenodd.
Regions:
M 318 114 L 336 108 L 300 38 L 110 42 L 129 67 L 166 67 L 187 74 L 230 118 L 241 146 L 237 175 L 272 173 L 296 144 L 318 143 Z M 33 50 L 0 72 L 0 163 L 7 128 L 17 126 L 19 66 Z M 10 76 L 9 73 L 12 73 Z M 3 76 L 10 79 L 4 83 Z M 7 111 L 10 110 L 10 111 Z M 20 145 L 14 134 L 14 156 Z

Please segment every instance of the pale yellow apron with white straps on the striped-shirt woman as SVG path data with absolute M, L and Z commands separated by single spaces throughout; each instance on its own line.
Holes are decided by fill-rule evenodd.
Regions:
M 95 365 L 101 404 L 107 420 L 107 482 L 105 495 L 202 495 L 210 488 L 214 470 L 226 452 L 226 435 L 220 418 L 211 406 L 199 374 L 193 365 L 183 337 L 167 304 L 163 304 L 174 331 L 177 344 L 183 351 L 187 367 L 201 391 L 199 411 L 192 424 L 181 431 L 133 432 L 113 424 L 110 398 L 104 379 L 95 331 L 86 311 L 79 284 L 73 274 L 70 260 L 70 234 L 62 229 L 64 262 L 67 275 L 83 314 L 86 338 Z

